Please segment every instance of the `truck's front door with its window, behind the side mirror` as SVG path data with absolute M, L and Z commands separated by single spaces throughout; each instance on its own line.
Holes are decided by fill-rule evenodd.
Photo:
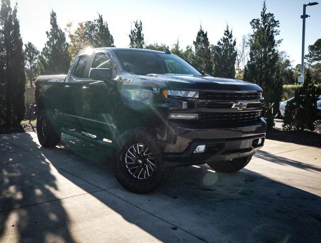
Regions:
M 107 50 L 94 54 L 90 68 L 109 68 L 111 78 L 115 78 L 118 72 Z M 82 92 L 82 113 L 88 132 L 111 140 L 115 130 L 113 112 L 117 101 L 116 88 L 108 81 L 89 78 L 83 81 Z

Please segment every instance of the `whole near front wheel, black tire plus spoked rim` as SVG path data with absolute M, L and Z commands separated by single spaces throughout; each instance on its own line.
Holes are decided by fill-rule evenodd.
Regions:
M 146 129 L 130 130 L 116 141 L 112 167 L 117 181 L 135 193 L 154 190 L 173 172 L 165 167 L 156 137 Z

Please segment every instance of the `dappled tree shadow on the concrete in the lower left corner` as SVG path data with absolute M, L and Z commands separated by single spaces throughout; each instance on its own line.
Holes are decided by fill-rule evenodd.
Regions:
M 27 142 L 36 150 L 30 140 L 31 137 Z M 68 216 L 53 193 L 59 189 L 53 166 L 6 140 L 0 140 L 0 148 L 0 241 L 10 242 L 5 235 L 14 230 L 13 241 L 17 242 L 45 242 L 53 240 L 54 235 L 58 236 L 56 239 L 63 235 L 66 242 L 74 242 L 68 230 Z M 36 207 L 41 218 L 36 217 L 34 207 L 45 201 L 55 203 Z M 50 228 L 42 228 L 43 222 Z

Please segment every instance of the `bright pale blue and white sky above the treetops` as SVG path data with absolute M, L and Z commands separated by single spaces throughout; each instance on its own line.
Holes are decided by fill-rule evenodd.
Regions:
M 15 1 L 12 0 L 14 3 Z M 191 45 L 199 25 L 208 31 L 211 44 L 216 44 L 223 35 L 226 23 L 233 29 L 238 45 L 242 35 L 250 33 L 249 22 L 258 18 L 262 1 L 126 1 L 126 0 L 17 0 L 18 17 L 23 42 L 33 43 L 41 50 L 46 42 L 46 30 L 50 28 L 49 13 L 57 13 L 60 27 L 67 22 L 93 20 L 97 13 L 103 15 L 114 37 L 116 47 L 128 47 L 131 21 L 141 19 L 145 42 L 165 43 L 170 47 L 179 39 L 182 48 Z M 321 38 L 320 5 L 307 7 L 306 51 Z M 267 11 L 280 21 L 280 35 L 283 39 L 279 49 L 286 51 L 293 65 L 301 60 L 302 5 L 301 0 L 267 0 Z

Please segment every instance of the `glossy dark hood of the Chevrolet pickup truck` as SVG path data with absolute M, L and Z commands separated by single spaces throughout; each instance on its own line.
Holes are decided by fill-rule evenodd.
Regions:
M 196 75 L 144 75 L 142 79 L 150 81 L 166 83 L 171 90 L 224 90 L 224 91 L 261 91 L 262 89 L 255 84 L 242 80 L 231 78 L 218 78 L 212 76 L 196 76 Z M 158 83 L 158 84 L 159 84 Z

